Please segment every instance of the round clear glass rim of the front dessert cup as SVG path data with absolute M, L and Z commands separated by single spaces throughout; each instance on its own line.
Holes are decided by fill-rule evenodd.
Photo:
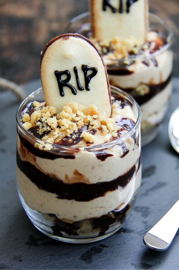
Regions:
M 50 143 L 50 142 L 46 142 L 46 141 L 43 141 L 42 139 L 40 138 L 37 138 L 36 136 L 34 136 L 33 134 L 31 134 L 30 132 L 28 132 L 24 126 L 22 125 L 22 122 L 20 121 L 20 113 L 22 112 L 22 108 L 23 106 L 27 103 L 28 103 L 28 100 L 31 98 L 31 97 L 35 97 L 37 94 L 40 94 L 43 92 L 42 90 L 42 87 L 36 89 L 35 91 L 33 91 L 32 93 L 30 93 L 29 95 L 27 95 L 27 97 L 24 98 L 24 100 L 19 104 L 18 108 L 17 108 L 17 111 L 16 111 L 16 123 L 17 123 L 17 126 L 18 126 L 18 129 L 21 130 L 21 132 L 24 133 L 24 135 L 26 137 L 28 137 L 30 140 L 32 140 L 34 142 L 34 145 L 35 143 L 39 143 L 39 144 L 42 144 L 42 145 L 50 145 L 52 146 L 50 150 L 45 150 L 47 152 L 50 152 L 51 150 L 61 150 L 61 151 L 74 151 L 75 149 L 81 149 L 82 151 L 95 151 L 95 149 L 99 150 L 99 148 L 101 149 L 107 149 L 107 148 L 110 148 L 112 146 L 115 146 L 116 144 L 120 144 L 122 142 L 124 142 L 125 140 L 127 140 L 128 138 L 130 138 L 135 132 L 136 130 L 139 129 L 140 127 L 140 123 L 141 123 L 141 110 L 140 110 L 140 107 L 138 105 L 138 103 L 134 100 L 134 98 L 132 96 L 130 96 L 128 93 L 126 93 L 125 91 L 115 87 L 115 86 L 110 86 L 110 89 L 111 90 L 115 90 L 115 91 L 118 91 L 119 94 L 122 94 L 124 97 L 127 98 L 127 100 L 129 100 L 132 105 L 135 105 L 136 108 L 137 108 L 137 112 L 138 112 L 138 117 L 137 117 L 137 120 L 134 124 L 134 126 L 132 127 L 132 129 L 130 131 L 128 131 L 126 134 L 122 135 L 120 138 L 117 138 L 113 141 L 109 141 L 107 143 L 102 143 L 102 144 L 97 144 L 97 145 L 91 145 L 91 146 L 78 146 L 78 145 L 73 145 L 73 146 L 62 146 L 62 145 L 59 145 L 59 144 L 53 144 L 53 143 Z M 35 140 L 34 140 L 35 138 Z

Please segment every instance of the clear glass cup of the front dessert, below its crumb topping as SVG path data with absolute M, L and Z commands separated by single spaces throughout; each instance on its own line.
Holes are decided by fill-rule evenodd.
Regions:
M 44 100 L 41 88 L 17 109 L 19 198 L 33 225 L 56 240 L 87 243 L 104 239 L 124 225 L 134 205 L 141 184 L 141 112 L 127 93 L 113 86 L 111 92 L 129 102 L 137 120 L 120 138 L 95 146 L 50 144 L 24 129 L 22 112 L 30 102 Z M 48 146 L 50 150 L 45 150 Z M 74 182 L 65 183 L 64 176 L 74 171 Z M 89 176 L 90 183 L 76 180 Z

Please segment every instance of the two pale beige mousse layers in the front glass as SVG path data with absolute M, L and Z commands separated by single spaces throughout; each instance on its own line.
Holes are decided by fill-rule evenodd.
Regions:
M 120 145 L 115 145 L 105 152 L 112 153 L 112 157 L 104 161 L 99 160 L 92 152 L 81 151 L 75 155 L 75 159 L 56 158 L 54 160 L 39 158 L 32 155 L 21 145 L 18 139 L 18 152 L 21 160 L 28 161 L 35 165 L 43 173 L 55 175 L 64 183 L 76 183 L 85 181 L 88 184 L 112 181 L 125 174 L 136 164 L 136 169 L 140 158 L 140 147 L 134 144 L 132 138 L 125 141 L 129 152 L 123 157 Z M 23 147 L 23 151 L 21 150 Z M 23 155 L 21 154 L 23 152 Z M 25 153 L 25 155 L 24 155 Z M 78 171 L 78 175 L 76 175 Z M 133 194 L 141 183 L 141 167 L 132 176 L 129 183 L 117 190 L 107 192 L 105 196 L 95 198 L 89 202 L 79 202 L 68 199 L 59 199 L 57 194 L 39 189 L 18 167 L 17 184 L 19 192 L 26 204 L 33 210 L 41 213 L 53 213 L 59 219 L 69 219 L 76 222 L 82 219 L 100 217 L 118 208 L 123 209 L 132 199 Z M 120 206 L 121 205 L 121 206 Z M 119 207 L 120 206 L 120 207 Z

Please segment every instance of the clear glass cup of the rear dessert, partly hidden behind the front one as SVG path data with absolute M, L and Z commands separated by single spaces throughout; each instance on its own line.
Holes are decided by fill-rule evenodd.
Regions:
M 158 16 L 149 14 L 149 29 L 160 33 L 166 44 L 148 55 L 131 55 L 111 60 L 103 56 L 107 66 L 109 83 L 134 97 L 141 108 L 141 144 L 152 141 L 165 118 L 172 93 L 171 73 L 173 32 Z M 81 14 L 70 22 L 68 33 L 92 36 L 89 13 Z

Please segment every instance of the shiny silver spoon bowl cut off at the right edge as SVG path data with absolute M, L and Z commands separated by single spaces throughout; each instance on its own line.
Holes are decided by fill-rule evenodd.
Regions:
M 179 107 L 170 117 L 168 133 L 173 148 L 179 153 Z

